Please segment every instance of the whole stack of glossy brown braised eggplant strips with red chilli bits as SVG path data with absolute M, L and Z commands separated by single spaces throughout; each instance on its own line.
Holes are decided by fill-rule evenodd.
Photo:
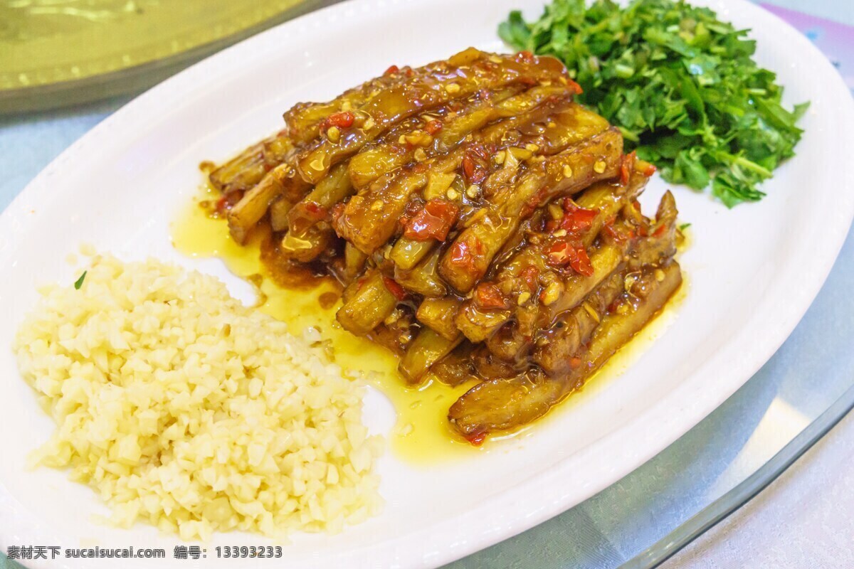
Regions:
M 392 66 L 215 168 L 238 243 L 342 284 L 337 320 L 400 357 L 409 386 L 477 378 L 459 434 L 535 421 L 581 387 L 681 284 L 676 203 L 655 168 L 573 101 L 564 65 L 466 49 Z

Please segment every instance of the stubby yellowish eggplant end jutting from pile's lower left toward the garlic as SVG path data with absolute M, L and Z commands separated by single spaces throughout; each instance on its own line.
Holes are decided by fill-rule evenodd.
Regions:
M 386 287 L 386 278 L 374 270 L 347 287 L 349 293 L 345 295 L 344 305 L 336 314 L 345 330 L 364 336 L 395 311 L 398 299 Z

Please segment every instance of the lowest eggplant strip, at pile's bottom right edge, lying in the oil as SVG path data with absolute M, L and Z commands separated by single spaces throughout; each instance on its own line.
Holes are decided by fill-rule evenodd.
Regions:
M 679 265 L 661 269 L 661 281 L 646 277 L 644 296 L 623 314 L 605 316 L 586 351 L 578 354 L 576 367 L 561 377 L 549 378 L 533 370 L 510 380 L 489 380 L 474 386 L 448 412 L 448 420 L 465 438 L 480 442 L 488 433 L 522 427 L 545 415 L 562 398 L 582 386 L 615 351 L 661 310 L 681 284 Z M 640 290 L 638 291 L 640 292 Z

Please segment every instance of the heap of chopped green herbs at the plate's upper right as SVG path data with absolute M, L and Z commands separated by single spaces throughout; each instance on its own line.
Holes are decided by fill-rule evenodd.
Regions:
M 512 12 L 499 35 L 554 55 L 575 74 L 583 103 L 617 125 L 627 152 L 662 177 L 704 189 L 728 207 L 763 198 L 759 183 L 793 156 L 809 103 L 781 106 L 775 74 L 751 59 L 745 30 L 674 0 L 553 0 L 539 20 Z

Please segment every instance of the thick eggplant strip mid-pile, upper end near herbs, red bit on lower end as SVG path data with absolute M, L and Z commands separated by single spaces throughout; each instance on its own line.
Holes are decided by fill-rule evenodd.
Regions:
M 623 137 L 611 129 L 531 167 L 518 184 L 500 190 L 488 212 L 453 241 L 439 273 L 459 293 L 467 293 L 522 218 L 558 195 L 572 195 L 590 183 L 615 177 L 622 154 Z

